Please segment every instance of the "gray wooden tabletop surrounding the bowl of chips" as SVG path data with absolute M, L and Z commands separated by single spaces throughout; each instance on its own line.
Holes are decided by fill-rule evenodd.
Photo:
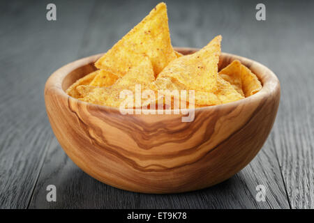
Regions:
M 218 34 L 223 51 L 259 61 L 281 81 L 281 105 L 262 151 L 219 185 L 183 194 L 138 194 L 84 174 L 50 128 L 43 100 L 50 74 L 105 52 L 158 1 L 0 1 L 0 208 L 314 208 L 314 2 L 166 1 L 172 44 L 202 47 Z M 57 202 L 46 201 L 56 185 Z M 257 185 L 266 201 L 257 202 Z

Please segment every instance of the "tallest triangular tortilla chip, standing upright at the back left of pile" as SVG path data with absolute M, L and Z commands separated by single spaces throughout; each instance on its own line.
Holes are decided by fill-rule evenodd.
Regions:
M 140 62 L 136 54 L 149 56 L 157 75 L 177 58 L 170 41 L 167 6 L 159 3 L 147 17 L 129 31 L 95 65 L 123 77 Z

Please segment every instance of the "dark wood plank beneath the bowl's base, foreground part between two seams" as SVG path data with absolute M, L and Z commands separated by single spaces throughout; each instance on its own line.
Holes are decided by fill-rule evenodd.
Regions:
M 219 185 L 182 194 L 139 194 L 110 187 L 80 170 L 52 141 L 29 208 L 289 208 L 272 145 L 239 174 Z M 276 161 L 276 160 L 275 160 Z M 264 168 L 262 168 L 264 166 Z M 279 174 L 279 175 L 278 175 Z M 267 188 L 266 202 L 257 202 L 257 185 Z M 46 201 L 47 185 L 57 187 L 57 202 Z

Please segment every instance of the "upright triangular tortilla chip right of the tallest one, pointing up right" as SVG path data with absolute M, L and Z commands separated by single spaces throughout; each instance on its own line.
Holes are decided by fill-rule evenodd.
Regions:
M 200 51 L 172 61 L 157 79 L 167 77 L 171 82 L 180 84 L 179 89 L 216 91 L 220 42 L 221 36 L 216 36 Z

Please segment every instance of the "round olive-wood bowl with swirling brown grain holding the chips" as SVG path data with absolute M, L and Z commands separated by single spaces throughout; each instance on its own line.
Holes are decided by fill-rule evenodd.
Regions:
M 117 108 L 68 96 L 68 86 L 96 70 L 94 61 L 100 56 L 54 72 L 45 85 L 45 105 L 66 154 L 103 183 L 157 194 L 209 187 L 251 162 L 271 131 L 280 84 L 274 72 L 260 63 L 223 53 L 220 69 L 238 59 L 259 77 L 262 90 L 236 102 L 197 108 L 194 121 L 181 122 L 181 114 L 122 115 Z

